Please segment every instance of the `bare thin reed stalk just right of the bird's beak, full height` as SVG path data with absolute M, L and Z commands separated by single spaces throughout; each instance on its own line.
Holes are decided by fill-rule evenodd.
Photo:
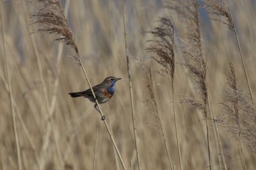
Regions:
M 126 51 L 127 72 L 128 72 L 129 87 L 130 87 L 132 125 L 134 126 L 134 141 L 135 141 L 135 148 L 136 148 L 136 154 L 137 154 L 137 163 L 138 163 L 139 170 L 141 170 L 141 167 L 140 167 L 140 156 L 139 156 L 139 147 L 138 147 L 138 144 L 137 144 L 136 121 L 135 121 L 135 116 L 134 116 L 134 101 L 133 101 L 133 97 L 132 97 L 130 61 L 129 61 L 128 50 L 127 50 L 124 0 L 122 0 L 122 11 L 123 11 L 123 18 L 124 18 L 123 20 L 124 20 L 124 34 L 125 34 L 125 51 Z

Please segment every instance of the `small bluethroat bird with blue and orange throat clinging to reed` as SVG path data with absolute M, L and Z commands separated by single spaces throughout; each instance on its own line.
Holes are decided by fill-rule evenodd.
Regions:
M 116 81 L 120 79 L 121 78 L 115 78 L 110 76 L 106 78 L 101 84 L 98 84 L 92 87 L 92 90 L 99 104 L 104 104 L 105 102 L 111 99 L 111 97 L 114 95 L 114 92 L 115 92 Z M 71 97 L 83 96 L 88 98 L 91 102 L 96 103 L 96 99 L 94 99 L 91 89 L 87 89 L 85 91 L 80 91 L 80 92 L 70 92 L 69 95 Z M 97 109 L 97 104 L 95 104 L 94 107 L 97 111 L 100 112 L 100 110 Z M 105 120 L 105 116 L 102 116 L 101 120 Z

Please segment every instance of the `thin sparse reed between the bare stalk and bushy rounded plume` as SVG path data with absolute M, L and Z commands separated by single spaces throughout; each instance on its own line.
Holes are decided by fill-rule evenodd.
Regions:
M 147 125 L 147 126 L 151 126 L 151 127 L 155 128 L 157 131 L 159 131 L 161 133 L 161 135 L 164 138 L 166 151 L 168 153 L 170 167 L 173 170 L 173 166 L 171 164 L 170 154 L 169 154 L 167 143 L 166 143 L 166 140 L 165 140 L 165 135 L 164 135 L 164 131 L 163 131 L 162 122 L 161 122 L 161 119 L 159 117 L 159 113 L 158 113 L 158 109 L 157 109 L 157 105 L 156 105 L 155 94 L 154 94 L 154 90 L 153 90 L 153 80 L 152 80 L 151 68 L 144 61 L 142 61 L 141 58 L 139 58 L 139 59 L 135 58 L 135 59 L 137 61 L 139 61 L 138 64 L 139 64 L 141 70 L 144 71 L 144 74 L 146 76 L 146 79 L 145 79 L 146 87 L 147 87 L 147 90 L 149 91 L 149 95 L 150 95 L 150 99 L 151 99 L 151 101 L 148 104 L 148 106 L 150 107 L 149 114 L 154 115 L 154 117 L 156 118 L 157 122 L 159 123 L 158 125 L 155 124 L 155 123 L 149 123 L 149 122 L 143 122 L 142 124 Z M 160 128 L 158 128 L 158 127 L 160 127 Z

